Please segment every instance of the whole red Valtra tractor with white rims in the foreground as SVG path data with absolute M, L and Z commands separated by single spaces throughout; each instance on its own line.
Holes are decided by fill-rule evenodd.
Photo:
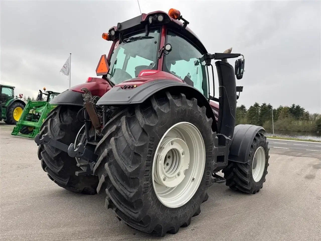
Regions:
M 213 183 L 259 192 L 269 165 L 265 129 L 235 126 L 243 55 L 208 53 L 188 23 L 170 9 L 103 33 L 112 46 L 97 66 L 101 77 L 57 95 L 35 138 L 52 181 L 106 192 L 119 220 L 157 236 L 187 227 Z M 218 97 L 210 96 L 213 59 Z

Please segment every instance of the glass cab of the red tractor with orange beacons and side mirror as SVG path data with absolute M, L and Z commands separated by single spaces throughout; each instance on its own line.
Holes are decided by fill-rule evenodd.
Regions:
M 236 58 L 240 54 L 209 54 L 188 24 L 176 9 L 170 9 L 168 13 L 143 13 L 118 23 L 102 34 L 103 39 L 113 41 L 113 44 L 106 62 L 100 59 L 97 75 L 102 75 L 112 85 L 138 82 L 142 76 L 166 76 L 166 79 L 196 88 L 208 100 L 214 98 L 209 94 L 211 59 Z M 237 61 L 235 73 L 239 79 L 243 75 L 244 60 Z M 213 72 L 213 66 L 210 71 Z M 129 86 L 135 84 L 139 86 L 138 83 Z

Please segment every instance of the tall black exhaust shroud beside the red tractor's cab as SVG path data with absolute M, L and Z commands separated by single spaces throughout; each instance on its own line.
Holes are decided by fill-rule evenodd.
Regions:
M 232 65 L 225 61 L 215 62 L 219 80 L 218 133 L 233 137 L 236 116 L 236 80 Z

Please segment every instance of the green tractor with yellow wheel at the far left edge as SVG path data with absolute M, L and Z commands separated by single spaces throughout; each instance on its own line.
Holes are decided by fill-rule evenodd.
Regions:
M 26 106 L 22 100 L 14 97 L 14 86 L 0 85 L 0 121 L 15 125 Z

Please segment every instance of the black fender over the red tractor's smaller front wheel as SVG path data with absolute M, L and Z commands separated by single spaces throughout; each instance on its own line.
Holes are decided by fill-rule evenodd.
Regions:
M 265 133 L 262 126 L 237 125 L 230 144 L 229 162 L 247 163 L 251 144 L 256 133 Z

